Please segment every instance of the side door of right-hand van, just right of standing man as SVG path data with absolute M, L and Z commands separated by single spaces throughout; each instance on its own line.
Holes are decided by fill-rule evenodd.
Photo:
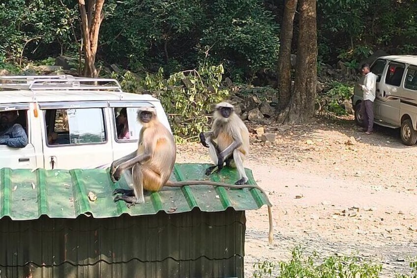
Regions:
M 404 75 L 405 64 L 401 62 L 389 62 L 385 80 L 379 84 L 380 116 L 383 122 L 394 126 L 400 126 L 400 86 Z

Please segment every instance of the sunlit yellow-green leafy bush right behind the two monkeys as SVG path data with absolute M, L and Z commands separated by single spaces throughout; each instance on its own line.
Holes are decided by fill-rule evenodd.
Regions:
M 185 70 L 164 77 L 163 68 L 157 73 L 146 73 L 140 78 L 127 71 L 121 78 L 113 74 L 113 78 L 121 80 L 120 85 L 127 92 L 146 92 L 157 97 L 173 129 L 178 143 L 193 140 L 208 128 L 209 117 L 213 105 L 224 100 L 229 91 L 221 88 L 223 65 L 202 66 L 198 70 Z

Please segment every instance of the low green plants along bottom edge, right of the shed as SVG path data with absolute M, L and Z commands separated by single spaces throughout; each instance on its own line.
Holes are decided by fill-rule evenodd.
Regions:
M 300 247 L 292 251 L 290 261 L 280 261 L 279 275 L 272 276 L 277 266 L 265 261 L 255 265 L 253 277 L 276 278 L 378 278 L 382 265 L 361 261 L 356 256 L 329 256 L 319 258 L 317 253 L 305 256 Z

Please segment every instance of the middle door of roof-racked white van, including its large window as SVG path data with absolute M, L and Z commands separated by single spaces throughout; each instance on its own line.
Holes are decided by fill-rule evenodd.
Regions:
M 45 169 L 95 168 L 112 162 L 107 102 L 45 102 L 39 107 Z

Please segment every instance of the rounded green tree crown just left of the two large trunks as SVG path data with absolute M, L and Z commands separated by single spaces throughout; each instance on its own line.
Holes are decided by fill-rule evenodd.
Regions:
M 209 26 L 201 38 L 201 56 L 223 62 L 237 80 L 243 69 L 249 82 L 261 68 L 274 68 L 279 52 L 279 28 L 258 0 L 217 0 L 207 10 Z

